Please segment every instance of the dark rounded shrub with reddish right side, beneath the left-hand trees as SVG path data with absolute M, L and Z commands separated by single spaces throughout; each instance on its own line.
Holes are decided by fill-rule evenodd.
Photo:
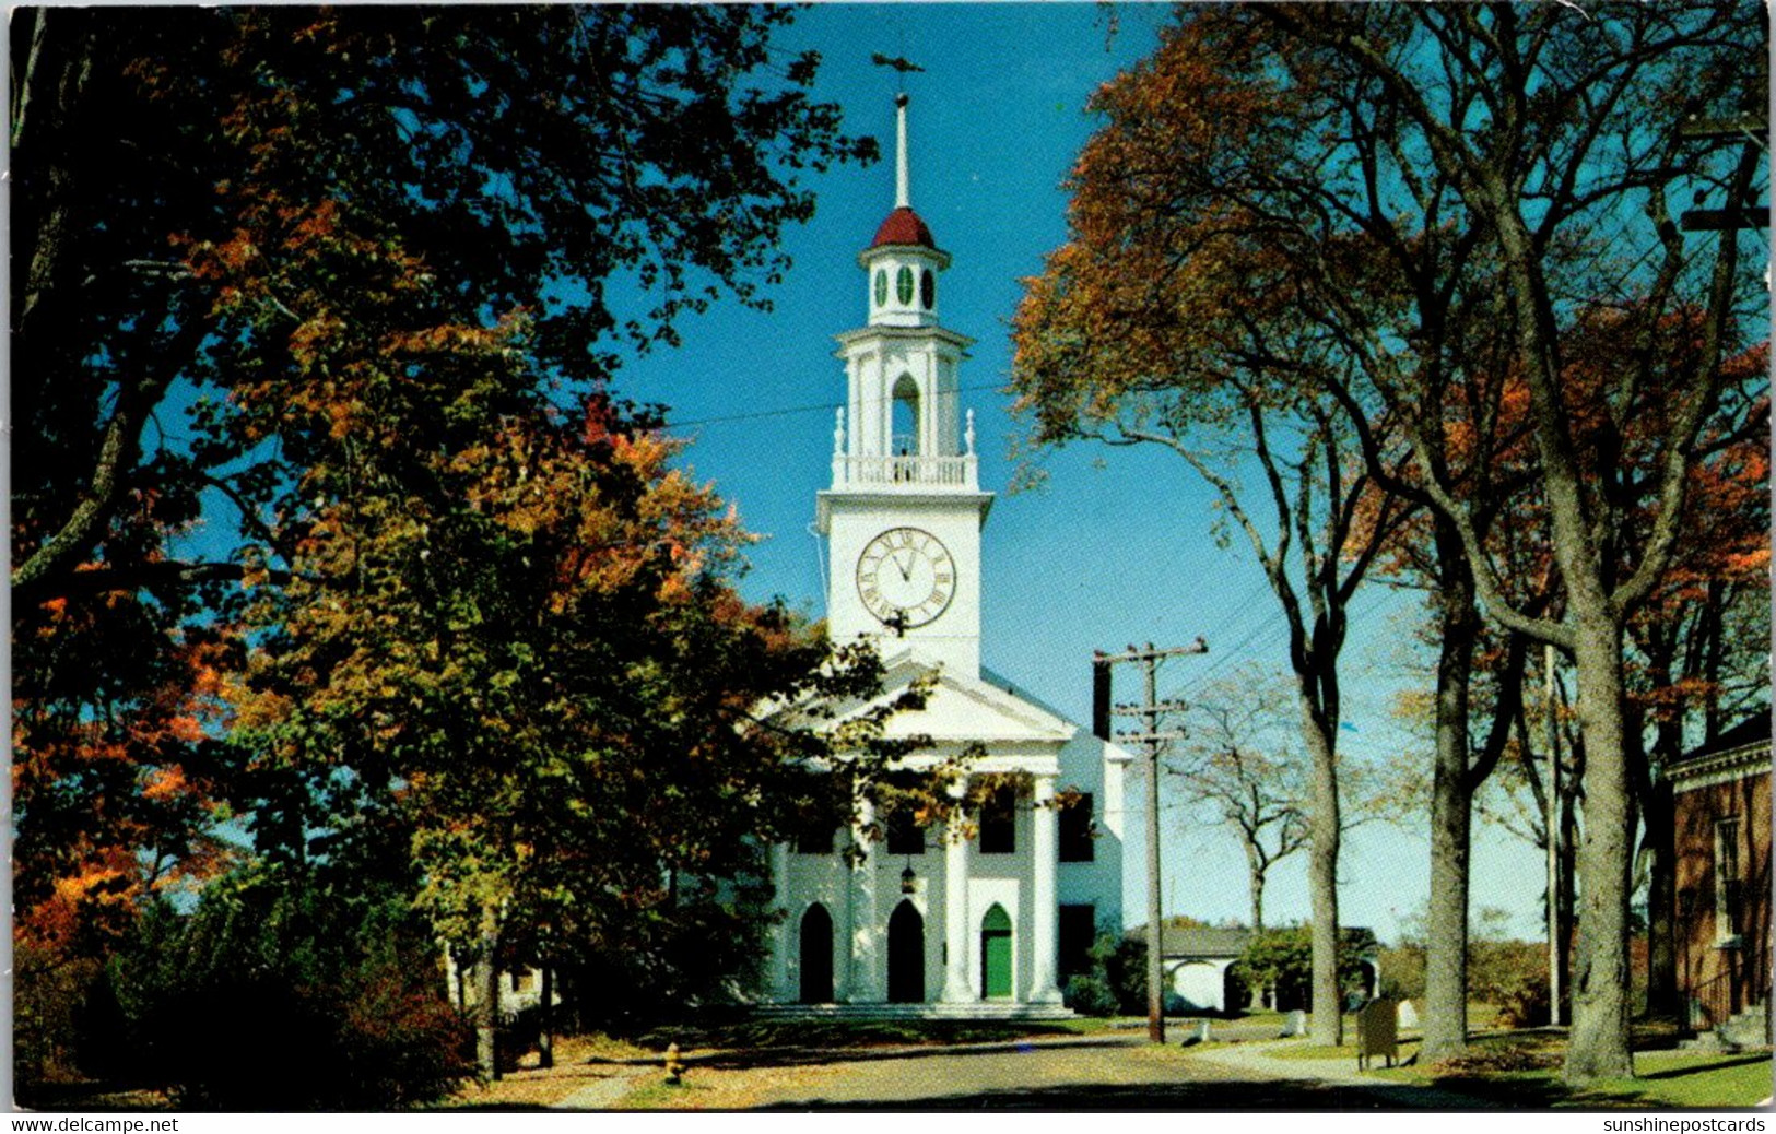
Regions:
M 435 949 L 392 893 L 245 871 L 139 923 L 89 996 L 83 1063 L 185 1109 L 394 1109 L 472 1074 Z M 115 1004 L 110 1008 L 108 1004 Z

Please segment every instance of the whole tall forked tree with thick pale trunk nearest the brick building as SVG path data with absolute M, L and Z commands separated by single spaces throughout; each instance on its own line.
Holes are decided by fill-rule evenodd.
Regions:
M 1559 621 L 1513 603 L 1495 561 L 1471 524 L 1472 509 L 1447 492 L 1428 460 L 1424 431 L 1410 433 L 1426 492 L 1447 516 L 1474 570 L 1488 614 L 1572 653 L 1586 736 L 1586 822 L 1581 850 L 1582 912 L 1568 1081 L 1632 1074 L 1627 1026 L 1627 870 L 1630 760 L 1625 736 L 1623 626 L 1664 575 L 1682 531 L 1694 440 L 1714 412 L 1723 360 L 1749 295 L 1740 241 L 1685 240 L 1669 211 L 1682 185 L 1717 186 L 1728 206 L 1749 201 L 1760 170 L 1753 146 L 1693 144 L 1682 112 L 1732 110 L 1749 94 L 1756 59 L 1755 14 L 1732 4 L 1684 9 L 1272 9 L 1280 32 L 1336 75 L 1344 106 L 1362 99 L 1355 153 L 1373 156 L 1359 201 L 1380 204 L 1398 181 L 1415 199 L 1394 232 L 1423 232 L 1437 215 L 1471 232 L 1497 264 L 1515 330 L 1513 362 L 1531 392 L 1538 486 L 1547 493 L 1554 561 L 1561 571 Z M 1325 78 L 1321 76 L 1321 83 Z M 1332 99 L 1327 103 L 1332 106 Z M 1343 106 L 1341 106 L 1343 110 Z M 1606 158 L 1607 154 L 1607 158 Z M 1405 202 L 1403 202 L 1405 204 Z M 1368 217 L 1385 217 L 1368 209 Z M 1639 259 L 1630 259 L 1630 257 Z M 1609 263 L 1613 261 L 1613 264 Z M 1645 263 L 1645 268 L 1639 266 Z M 1444 273 L 1430 279 L 1447 279 Z M 1590 293 L 1590 295 L 1586 295 Z M 1421 291 L 1419 332 L 1435 337 L 1439 303 Z M 1606 429 L 1621 433 L 1634 394 L 1653 385 L 1669 357 L 1657 339 L 1669 319 L 1687 325 L 1696 350 L 1659 385 L 1666 428 L 1655 437 L 1657 474 L 1646 490 L 1653 520 L 1629 538 L 1625 513 L 1641 495 L 1620 465 L 1588 470 L 1565 382 L 1579 360 L 1563 348 L 1574 298 L 1621 307 L 1614 335 L 1634 344 L 1634 364 L 1614 376 Z M 1352 319 L 1371 339 L 1373 321 Z M 1353 337 L 1353 344 L 1366 346 Z M 1435 339 L 1431 341 L 1435 346 Z M 1439 351 L 1440 353 L 1440 351 Z M 1430 348 L 1389 366 L 1369 351 L 1366 376 L 1396 405 L 1423 405 L 1401 382 Z M 1591 472 L 1593 476 L 1588 476 Z

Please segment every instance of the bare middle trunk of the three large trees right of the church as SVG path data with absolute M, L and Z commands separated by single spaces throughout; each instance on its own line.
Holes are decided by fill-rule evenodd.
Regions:
M 1439 524 L 1440 531 L 1444 527 Z M 1455 552 L 1460 554 L 1460 536 L 1455 539 Z M 1478 626 L 1472 591 L 1462 586 L 1465 566 L 1446 559 L 1442 575 L 1437 745 L 1431 770 L 1431 893 L 1424 941 L 1424 1012 L 1419 1017 L 1424 1022 L 1424 1063 L 1460 1056 L 1467 1049 L 1467 713 Z

